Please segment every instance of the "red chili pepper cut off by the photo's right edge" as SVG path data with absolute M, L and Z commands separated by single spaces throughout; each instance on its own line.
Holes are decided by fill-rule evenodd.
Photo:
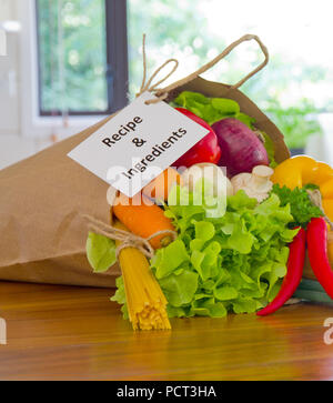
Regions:
M 327 295 L 333 299 L 333 271 L 327 253 L 327 224 L 322 216 L 310 221 L 306 241 L 311 268 Z

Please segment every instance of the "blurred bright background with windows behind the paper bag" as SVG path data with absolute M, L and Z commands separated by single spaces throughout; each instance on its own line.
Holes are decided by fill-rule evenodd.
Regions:
M 133 99 L 143 32 L 150 72 L 179 59 L 169 82 L 258 34 L 270 63 L 242 91 L 293 152 L 333 164 L 332 13 L 327 0 L 0 0 L 0 169 Z M 235 83 L 261 60 L 246 42 L 203 77 Z

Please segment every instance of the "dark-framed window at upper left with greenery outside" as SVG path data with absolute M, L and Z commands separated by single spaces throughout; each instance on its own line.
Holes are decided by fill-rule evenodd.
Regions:
M 118 0 L 36 0 L 39 114 L 110 114 L 127 103 L 127 10 Z

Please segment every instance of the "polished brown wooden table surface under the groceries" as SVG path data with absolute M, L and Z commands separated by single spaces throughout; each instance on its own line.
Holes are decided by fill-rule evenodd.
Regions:
M 171 332 L 134 333 L 110 294 L 0 283 L 0 380 L 333 380 L 323 339 L 333 308 L 174 319 Z

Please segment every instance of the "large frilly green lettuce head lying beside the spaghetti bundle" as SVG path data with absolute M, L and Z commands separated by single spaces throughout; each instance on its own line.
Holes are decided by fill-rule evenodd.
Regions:
M 265 306 L 279 292 L 286 274 L 286 244 L 297 233 L 289 228 L 290 205 L 282 206 L 276 194 L 258 204 L 239 191 L 228 198 L 224 214 L 210 216 L 204 203 L 193 204 L 193 194 L 188 205 L 174 203 L 183 192 L 173 188 L 172 203 L 165 206 L 179 236 L 151 260 L 169 316 L 222 318 Z M 121 280 L 119 284 L 113 301 L 124 304 Z

